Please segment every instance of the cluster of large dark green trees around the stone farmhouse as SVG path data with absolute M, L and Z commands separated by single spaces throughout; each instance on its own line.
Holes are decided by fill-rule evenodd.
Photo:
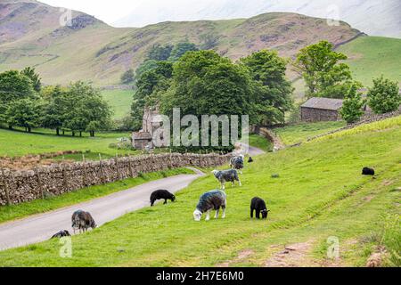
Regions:
M 132 104 L 135 128 L 142 126 L 143 108 L 159 106 L 168 116 L 250 115 L 250 123 L 282 123 L 292 108 L 287 61 L 276 52 L 260 51 L 233 62 L 214 51 L 190 51 L 176 62 L 157 61 L 156 68 L 137 78 Z

